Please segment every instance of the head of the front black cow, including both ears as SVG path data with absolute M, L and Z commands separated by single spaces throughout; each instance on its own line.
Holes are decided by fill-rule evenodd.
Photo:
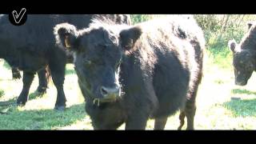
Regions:
M 118 72 L 123 49 L 130 49 L 139 30 L 122 30 L 116 34 L 104 27 L 76 30 L 64 23 L 54 28 L 57 43 L 74 50 L 78 83 L 86 98 L 94 102 L 114 102 L 121 96 Z

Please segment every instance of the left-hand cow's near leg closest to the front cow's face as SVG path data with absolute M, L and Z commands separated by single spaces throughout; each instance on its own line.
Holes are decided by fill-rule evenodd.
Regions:
M 63 90 L 63 84 L 65 80 L 65 66 L 66 61 L 64 63 L 61 62 L 59 64 L 54 65 L 50 63 L 50 72 L 54 82 L 54 86 L 57 89 L 57 101 L 55 103 L 55 110 L 65 110 L 66 107 L 66 97 Z

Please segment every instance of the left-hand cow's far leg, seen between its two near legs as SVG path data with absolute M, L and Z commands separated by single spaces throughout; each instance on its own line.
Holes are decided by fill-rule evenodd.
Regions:
M 40 94 L 45 94 L 46 93 L 46 89 L 47 89 L 47 78 L 46 78 L 46 69 L 42 69 L 38 71 L 38 79 L 39 79 L 39 86 L 37 91 Z

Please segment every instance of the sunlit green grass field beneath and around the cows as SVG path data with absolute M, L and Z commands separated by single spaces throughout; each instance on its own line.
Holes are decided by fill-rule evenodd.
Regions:
M 252 75 L 247 86 L 235 86 L 230 54 L 223 56 L 207 51 L 205 59 L 195 129 L 256 130 L 256 74 Z M 22 90 L 22 79 L 12 80 L 10 67 L 0 60 L 1 130 L 93 130 L 84 110 L 85 102 L 73 65 L 66 66 L 64 90 L 68 108 L 64 112 L 53 110 L 56 89 L 52 82 L 47 93 L 40 97 L 34 92 L 37 86 L 38 78 L 35 77 L 26 106 L 6 105 L 15 102 Z M 177 130 L 178 125 L 177 113 L 168 119 L 166 130 Z M 148 121 L 146 129 L 152 130 L 153 127 L 154 120 Z M 124 130 L 124 125 L 119 130 Z

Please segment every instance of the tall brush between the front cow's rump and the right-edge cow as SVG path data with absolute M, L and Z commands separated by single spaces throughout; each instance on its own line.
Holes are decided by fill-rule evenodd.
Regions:
M 204 31 L 207 49 L 222 51 L 230 39 L 240 42 L 246 34 L 247 22 L 256 17 L 250 14 L 194 14 L 194 18 Z

